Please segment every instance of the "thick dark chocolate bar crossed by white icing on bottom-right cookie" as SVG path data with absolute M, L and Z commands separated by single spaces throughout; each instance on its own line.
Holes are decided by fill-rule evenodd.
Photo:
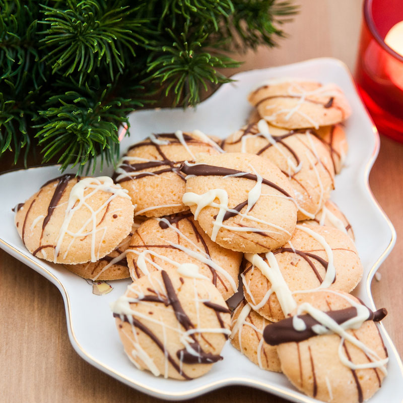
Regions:
M 367 320 L 379 322 L 387 314 L 385 308 L 378 309 L 375 312 L 371 311 L 369 308 L 367 309 L 369 315 Z M 342 324 L 357 316 L 357 308 L 351 306 L 345 309 L 326 311 L 325 313 L 338 324 Z M 293 318 L 289 317 L 280 320 L 279 322 L 267 325 L 263 330 L 264 341 L 271 346 L 277 346 L 282 343 L 298 343 L 317 336 L 317 333 L 312 330 L 312 326 L 320 323 L 309 314 L 298 315 L 298 317 L 304 321 L 306 325 L 305 330 L 295 330 L 293 326 Z

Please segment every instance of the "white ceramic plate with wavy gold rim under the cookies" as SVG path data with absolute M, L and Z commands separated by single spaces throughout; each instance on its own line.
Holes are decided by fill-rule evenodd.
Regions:
M 364 266 L 363 280 L 356 294 L 374 309 L 370 283 L 376 269 L 394 245 L 395 231 L 368 186 L 369 171 L 379 149 L 378 133 L 357 95 L 350 72 L 340 61 L 321 58 L 240 73 L 233 77 L 237 80 L 235 83 L 223 85 L 196 109 L 134 112 L 130 115 L 131 137 L 123 139 L 121 150 L 124 152 L 130 144 L 149 136 L 151 132 L 200 129 L 210 135 L 226 137 L 245 123 L 250 112 L 246 101 L 248 92 L 268 78 L 284 76 L 334 82 L 344 90 L 351 103 L 353 114 L 346 123 L 350 151 L 346 167 L 335 180 L 336 190 L 331 198 L 349 218 L 356 235 L 357 249 Z M 59 174 L 57 166 L 47 166 L 0 176 L 0 189 L 7 189 L 0 198 L 3 217 L 0 247 L 58 287 L 64 299 L 70 340 L 82 358 L 127 385 L 164 399 L 191 398 L 235 384 L 253 386 L 292 401 L 317 401 L 297 391 L 284 375 L 260 370 L 229 343 L 222 353 L 224 360 L 215 364 L 207 375 L 191 381 L 156 378 L 149 372 L 136 369 L 123 352 L 109 309 L 109 303 L 123 294 L 129 281 L 111 282 L 114 288 L 112 292 L 96 296 L 85 280 L 60 265 L 33 257 L 25 249 L 15 229 L 11 209 L 36 192 L 48 179 Z M 402 363 L 382 325 L 380 330 L 390 360 L 388 376 L 371 403 L 401 401 Z

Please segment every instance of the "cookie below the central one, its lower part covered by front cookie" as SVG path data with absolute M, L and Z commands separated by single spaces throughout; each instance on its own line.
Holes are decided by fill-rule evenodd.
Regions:
M 133 281 L 155 270 L 194 263 L 225 300 L 238 291 L 242 253 L 214 243 L 189 211 L 147 220 L 129 244 L 126 257 Z

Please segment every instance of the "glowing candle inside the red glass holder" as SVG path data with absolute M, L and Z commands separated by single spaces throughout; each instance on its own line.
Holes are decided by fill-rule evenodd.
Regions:
M 390 28 L 384 42 L 400 56 L 403 56 L 403 21 Z M 390 81 L 403 90 L 403 65 L 401 61 L 389 57 L 385 63 L 385 71 Z

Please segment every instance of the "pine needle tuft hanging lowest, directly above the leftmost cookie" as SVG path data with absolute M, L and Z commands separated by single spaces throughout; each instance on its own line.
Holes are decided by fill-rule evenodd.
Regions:
M 94 172 L 95 157 L 99 154 L 101 170 L 104 161 L 114 164 L 119 156 L 118 126 L 128 126 L 126 115 L 133 108 L 143 106 L 142 103 L 115 96 L 115 88 L 111 84 L 106 88 L 101 86 L 98 76 L 94 76 L 91 86 L 79 86 L 73 79 L 60 81 L 57 86 L 72 90 L 51 96 L 44 105 L 46 109 L 39 111 L 40 116 L 46 117 L 35 126 L 39 129 L 35 137 L 43 146 L 43 162 L 59 156 L 61 170 L 70 164 L 79 165 L 79 173 L 85 166 L 88 172 L 91 165 Z

